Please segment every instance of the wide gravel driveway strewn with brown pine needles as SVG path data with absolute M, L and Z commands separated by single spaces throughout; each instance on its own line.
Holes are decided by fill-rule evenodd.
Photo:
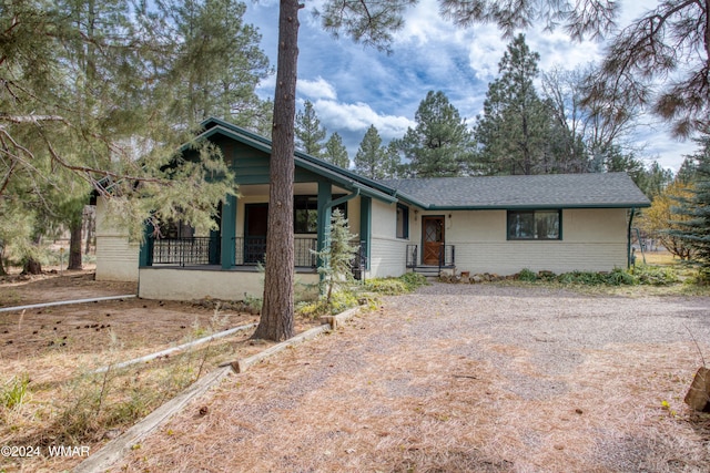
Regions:
M 230 377 L 115 471 L 707 472 L 691 332 L 710 357 L 710 298 L 435 284 Z

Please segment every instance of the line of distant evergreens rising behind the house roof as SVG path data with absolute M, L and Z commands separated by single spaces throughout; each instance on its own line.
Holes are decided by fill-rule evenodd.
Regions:
M 296 146 L 372 178 L 623 171 L 647 195 L 659 194 L 672 173 L 656 162 L 646 165 L 628 144 L 639 105 L 619 94 L 615 106 L 623 113 L 599 113 L 605 105 L 589 95 L 592 66 L 554 70 L 540 78 L 539 60 L 525 35 L 514 38 L 471 126 L 444 92 L 429 91 L 414 127 L 383 144 L 371 125 L 351 163 L 337 133 L 324 142 L 327 132 L 306 101 L 295 120 Z M 535 86 L 537 79 L 541 91 Z

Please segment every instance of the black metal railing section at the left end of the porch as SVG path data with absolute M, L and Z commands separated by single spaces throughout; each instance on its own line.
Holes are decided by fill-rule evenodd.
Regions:
M 153 265 L 200 266 L 220 263 L 219 238 L 156 238 L 151 245 Z

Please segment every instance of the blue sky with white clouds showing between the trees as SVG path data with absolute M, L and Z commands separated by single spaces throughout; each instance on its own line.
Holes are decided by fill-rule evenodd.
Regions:
M 305 100 L 314 104 L 328 136 L 337 132 L 351 160 L 371 124 L 386 144 L 414 126 L 414 115 L 428 91 L 443 91 L 469 126 L 483 109 L 488 83 L 498 73 L 498 62 L 508 40 L 490 25 L 457 29 L 438 16 L 436 0 L 419 0 L 405 18 L 405 28 L 395 35 L 393 53 L 353 43 L 325 33 L 312 17 L 318 0 L 304 1 L 298 40 L 298 106 Z M 657 0 L 621 0 L 618 24 L 623 27 L 658 3 Z M 276 65 L 278 1 L 247 1 L 244 18 L 258 28 L 262 49 Z M 525 31 L 528 47 L 540 54 L 539 68 L 577 69 L 602 56 L 604 44 L 571 42 L 561 30 Z M 263 97 L 273 99 L 275 78 L 258 88 Z M 683 155 L 696 150 L 692 142 L 679 142 L 667 132 L 668 125 L 645 116 L 630 140 L 639 156 L 658 160 L 677 171 Z

